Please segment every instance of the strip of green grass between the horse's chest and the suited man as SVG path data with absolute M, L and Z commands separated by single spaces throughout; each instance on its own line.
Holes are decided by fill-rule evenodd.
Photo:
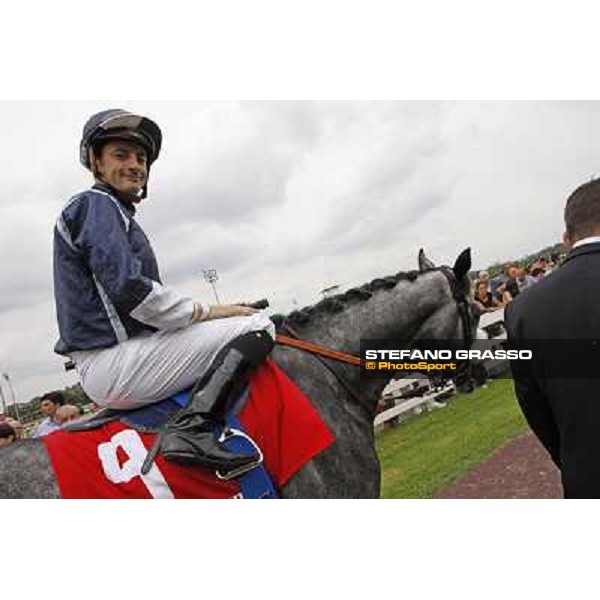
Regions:
M 511 380 L 454 396 L 377 436 L 381 497 L 431 498 L 526 429 Z

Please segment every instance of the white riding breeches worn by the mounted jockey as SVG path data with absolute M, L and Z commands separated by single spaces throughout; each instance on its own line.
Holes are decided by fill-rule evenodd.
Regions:
M 202 321 L 184 329 L 148 333 L 72 358 L 85 393 L 98 405 L 130 409 L 152 404 L 192 386 L 218 352 L 250 331 L 275 326 L 263 313 Z

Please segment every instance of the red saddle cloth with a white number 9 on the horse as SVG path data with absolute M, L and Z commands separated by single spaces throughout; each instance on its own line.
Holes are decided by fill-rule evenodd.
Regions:
M 261 448 L 264 467 L 278 488 L 334 440 L 306 396 L 271 361 L 252 377 L 238 418 Z M 237 482 L 160 454 L 150 472 L 141 475 L 154 436 L 113 421 L 91 431 L 55 431 L 42 440 L 62 498 L 242 497 Z

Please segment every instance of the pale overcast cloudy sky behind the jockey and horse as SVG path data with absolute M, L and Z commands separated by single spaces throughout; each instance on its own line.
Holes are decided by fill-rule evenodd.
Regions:
M 208 268 L 222 301 L 287 312 L 413 269 L 420 247 L 519 257 L 600 174 L 598 102 L 2 102 L 0 372 L 22 401 L 77 380 L 53 353 L 52 229 L 90 184 L 84 121 L 114 106 L 163 130 L 139 222 L 165 283 L 204 302 Z

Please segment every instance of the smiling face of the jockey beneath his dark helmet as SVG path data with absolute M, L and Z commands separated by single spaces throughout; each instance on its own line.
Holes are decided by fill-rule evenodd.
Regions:
M 96 157 L 96 172 L 104 183 L 139 202 L 148 179 L 146 150 L 134 142 L 108 142 Z

